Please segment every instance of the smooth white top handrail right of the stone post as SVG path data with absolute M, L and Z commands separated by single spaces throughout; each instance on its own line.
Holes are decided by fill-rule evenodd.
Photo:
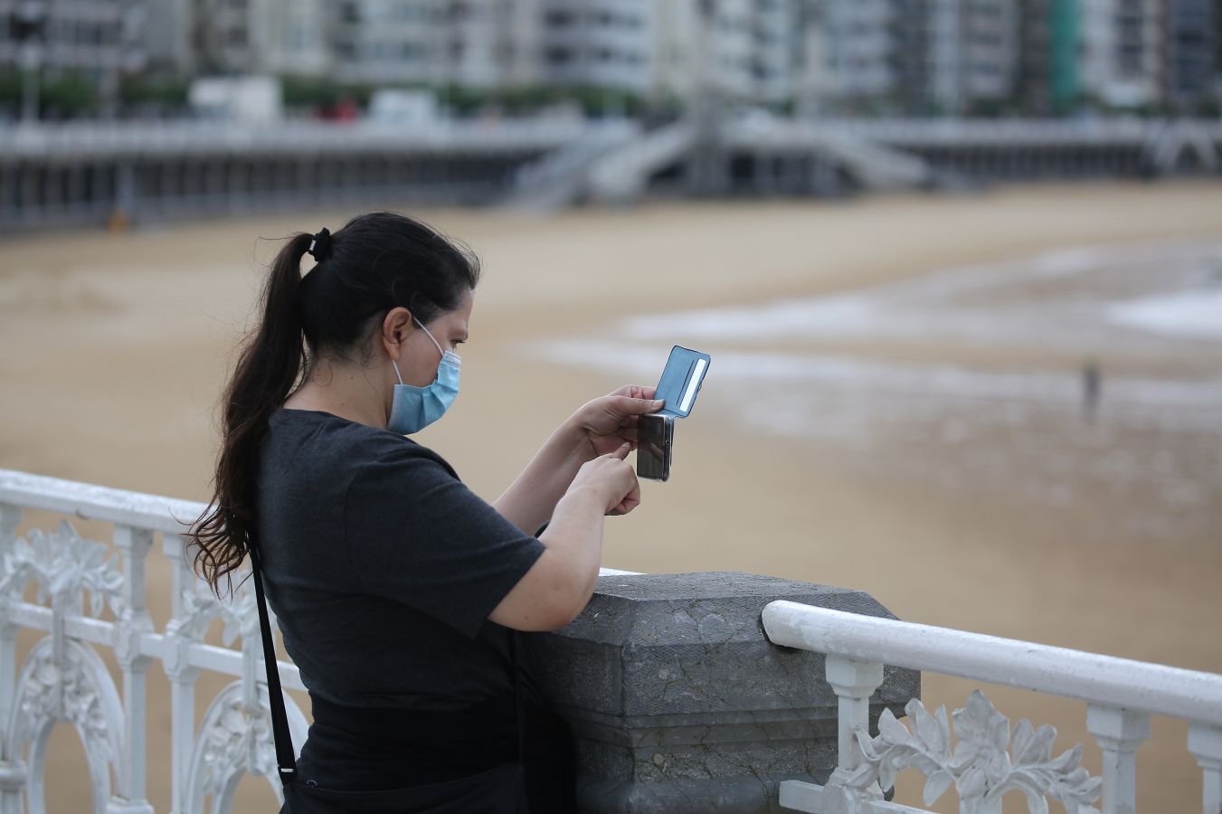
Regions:
M 1222 676 L 930 625 L 775 601 L 775 644 L 1222 726 Z

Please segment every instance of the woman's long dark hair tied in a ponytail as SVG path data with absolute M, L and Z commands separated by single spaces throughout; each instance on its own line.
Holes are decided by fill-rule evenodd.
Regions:
M 318 264 L 302 277 L 302 258 Z M 396 307 L 422 323 L 462 304 L 479 280 L 474 255 L 396 213 L 370 213 L 331 235 L 295 235 L 263 290 L 263 319 L 247 337 L 225 390 L 215 494 L 188 538 L 196 570 L 220 595 L 242 565 L 258 523 L 259 449 L 268 419 L 319 356 L 348 358 Z M 380 320 L 378 320 L 380 321 Z

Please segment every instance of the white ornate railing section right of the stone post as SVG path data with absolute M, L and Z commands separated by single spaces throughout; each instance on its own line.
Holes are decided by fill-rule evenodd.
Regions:
M 1047 799 L 1069 814 L 1133 814 L 1136 749 L 1150 735 L 1150 715 L 1187 720 L 1188 748 L 1204 771 L 1202 810 L 1222 814 L 1222 676 L 1156 664 L 1002 639 L 979 633 L 858 616 L 789 601 L 764 610 L 775 644 L 827 656 L 827 683 L 840 698 L 838 768 L 827 783 L 786 781 L 781 805 L 818 814 L 916 814 L 884 801 L 896 775 L 925 775 L 925 804 L 954 786 L 962 814 L 1001 814 L 1002 797 L 1026 794 L 1030 812 Z M 1056 730 L 1033 728 L 997 713 L 979 691 L 956 710 L 952 743 L 946 708 L 930 714 L 918 699 L 907 705 L 910 728 L 885 710 L 879 733 L 869 732 L 869 698 L 882 683 L 882 665 L 1024 687 L 1088 703 L 1086 728 L 1103 754 L 1102 777 L 1079 763 L 1081 746 L 1053 758 Z

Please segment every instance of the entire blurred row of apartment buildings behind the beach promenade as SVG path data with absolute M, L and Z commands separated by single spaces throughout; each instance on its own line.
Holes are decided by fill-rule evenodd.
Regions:
M 0 70 L 35 56 L 809 114 L 1194 110 L 1222 94 L 1222 0 L 0 0 Z

